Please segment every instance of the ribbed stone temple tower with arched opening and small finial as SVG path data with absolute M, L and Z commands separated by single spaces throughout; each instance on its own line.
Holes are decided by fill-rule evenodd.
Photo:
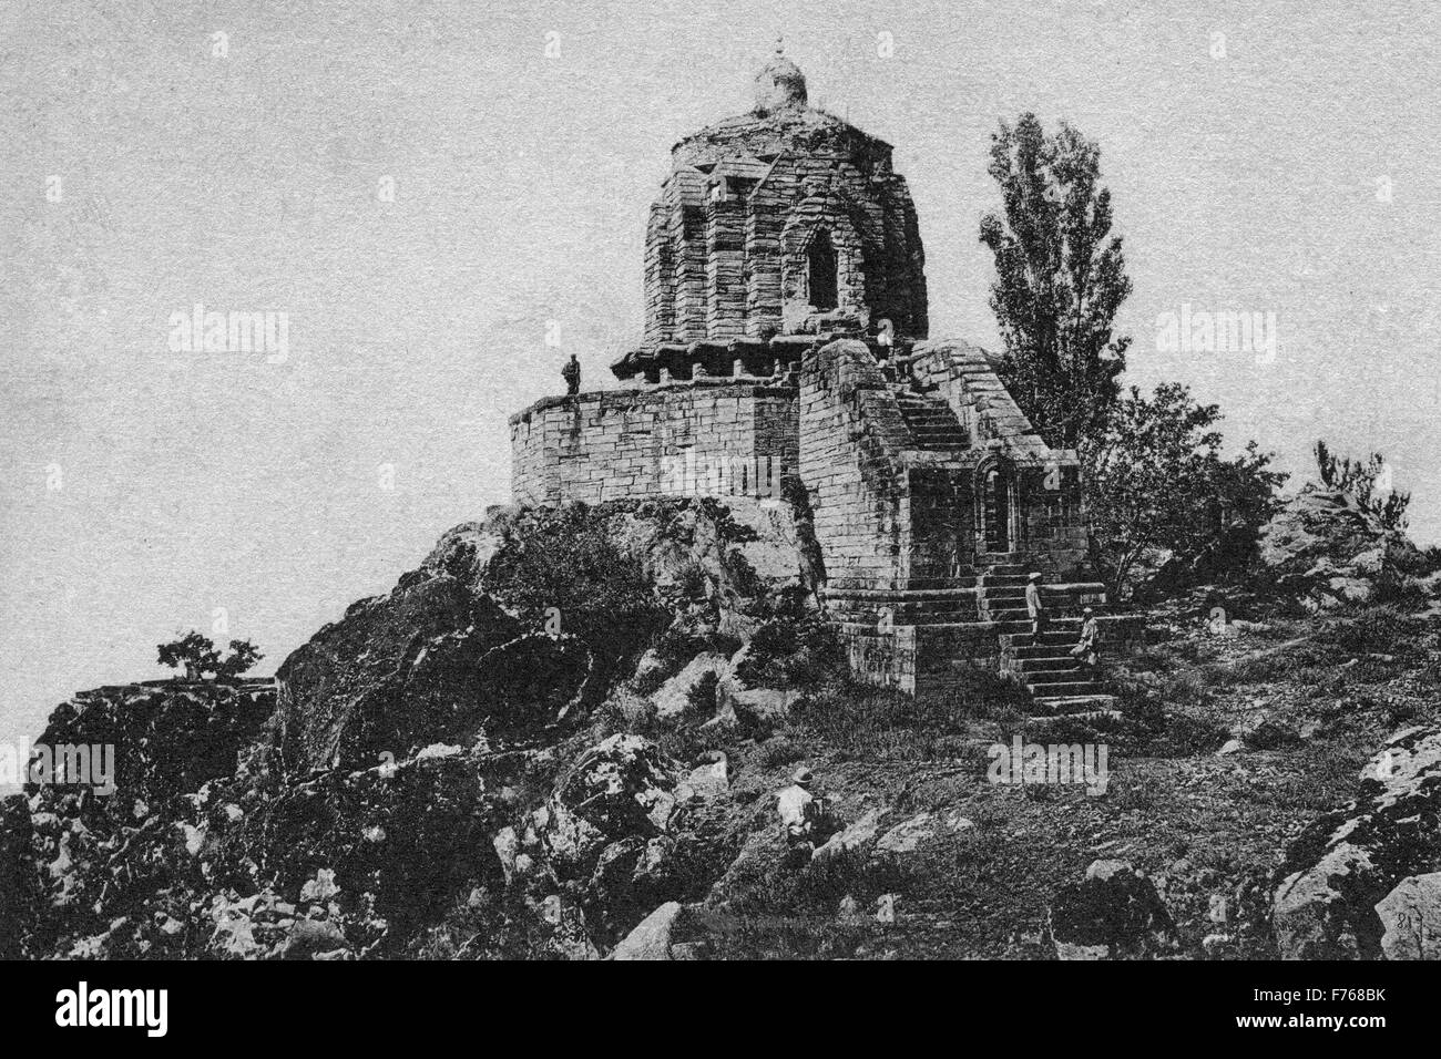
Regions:
M 684 137 L 670 163 L 646 223 L 646 330 L 618 377 L 729 373 L 738 352 L 771 375 L 829 336 L 927 336 L 925 254 L 891 144 L 807 105 L 780 50 L 755 108 Z

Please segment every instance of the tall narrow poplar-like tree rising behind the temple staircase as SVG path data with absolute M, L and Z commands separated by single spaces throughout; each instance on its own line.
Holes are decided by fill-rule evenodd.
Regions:
M 1004 215 L 981 219 L 996 258 L 991 310 L 1001 380 L 1048 444 L 1084 447 L 1120 398 L 1131 340 L 1112 320 L 1131 292 L 1111 193 L 1098 187 L 1099 147 L 1071 125 L 1046 135 L 1035 114 L 1001 122 L 990 174 Z

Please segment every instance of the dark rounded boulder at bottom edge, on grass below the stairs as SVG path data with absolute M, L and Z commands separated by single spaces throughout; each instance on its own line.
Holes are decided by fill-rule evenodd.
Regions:
M 1176 926 L 1156 885 L 1124 860 L 1097 860 L 1046 912 L 1059 960 L 1148 957 L 1174 947 Z

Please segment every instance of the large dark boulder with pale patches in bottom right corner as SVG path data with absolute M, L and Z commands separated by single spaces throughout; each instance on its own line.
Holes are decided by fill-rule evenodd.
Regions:
M 1307 827 L 1278 872 L 1271 918 L 1285 960 L 1379 958 L 1378 903 L 1441 866 L 1441 729 L 1392 736 L 1360 777 L 1356 800 Z

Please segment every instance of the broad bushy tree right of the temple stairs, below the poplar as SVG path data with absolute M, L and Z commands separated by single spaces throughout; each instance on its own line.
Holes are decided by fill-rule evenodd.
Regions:
M 1131 386 L 1085 450 L 1092 559 L 1114 598 L 1148 548 L 1222 569 L 1254 553 L 1287 475 L 1268 470 L 1272 455 L 1254 441 L 1223 458 L 1219 419 L 1216 405 L 1197 405 L 1180 383 L 1161 383 L 1150 399 Z

